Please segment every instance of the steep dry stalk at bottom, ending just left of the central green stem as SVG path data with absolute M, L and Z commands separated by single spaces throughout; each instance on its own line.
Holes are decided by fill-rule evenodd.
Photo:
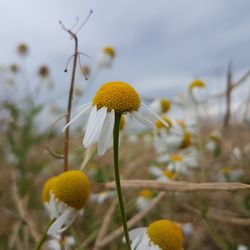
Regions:
M 105 234 L 106 234 L 107 231 L 108 231 L 110 222 L 111 222 L 111 220 L 112 220 L 112 215 L 113 215 L 114 212 L 115 212 L 116 206 L 117 206 L 117 200 L 114 199 L 114 200 L 112 201 L 112 203 L 111 203 L 111 205 L 110 205 L 110 207 L 109 207 L 107 213 L 106 213 L 105 216 L 104 216 L 104 219 L 103 219 L 103 222 L 102 222 L 102 225 L 101 225 L 99 234 L 98 234 L 98 236 L 97 236 L 95 245 L 94 245 L 94 247 L 93 247 L 93 250 L 99 250 L 99 249 L 100 249 L 99 244 L 100 244 L 101 240 L 103 239 L 103 237 L 105 236 Z

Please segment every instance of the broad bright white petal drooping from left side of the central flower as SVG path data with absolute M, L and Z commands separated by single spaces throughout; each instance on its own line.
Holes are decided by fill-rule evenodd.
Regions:
M 83 139 L 83 145 L 85 147 L 90 146 L 98 140 L 106 115 L 106 107 L 102 107 L 99 110 L 97 110 L 96 107 L 92 109 L 87 124 L 86 134 Z

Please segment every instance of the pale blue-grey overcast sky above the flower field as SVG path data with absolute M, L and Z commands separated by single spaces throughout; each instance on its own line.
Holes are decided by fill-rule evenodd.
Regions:
M 94 11 L 79 33 L 79 49 L 95 64 L 103 46 L 117 58 L 96 86 L 110 80 L 133 84 L 145 96 L 173 97 L 194 77 L 224 86 L 228 61 L 235 75 L 250 66 L 249 0 L 0 0 L 0 64 L 17 60 L 16 45 L 30 47 L 28 65 L 50 65 L 57 95 L 68 87 L 63 69 L 73 42 L 59 20 L 71 26 Z

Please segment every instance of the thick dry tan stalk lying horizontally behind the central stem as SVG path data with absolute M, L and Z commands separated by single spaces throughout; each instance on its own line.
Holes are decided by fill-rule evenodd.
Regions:
M 101 184 L 104 189 L 115 189 L 115 182 Z M 240 191 L 250 189 L 250 185 L 243 183 L 217 183 L 204 182 L 192 183 L 182 181 L 171 181 L 168 183 L 154 180 L 122 180 L 121 186 L 124 189 L 150 188 L 168 192 L 196 192 L 196 191 Z

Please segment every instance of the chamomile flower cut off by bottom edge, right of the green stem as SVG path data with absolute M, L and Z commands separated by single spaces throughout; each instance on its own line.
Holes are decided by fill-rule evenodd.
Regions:
M 132 250 L 181 250 L 182 229 L 170 220 L 158 220 L 129 232 Z

